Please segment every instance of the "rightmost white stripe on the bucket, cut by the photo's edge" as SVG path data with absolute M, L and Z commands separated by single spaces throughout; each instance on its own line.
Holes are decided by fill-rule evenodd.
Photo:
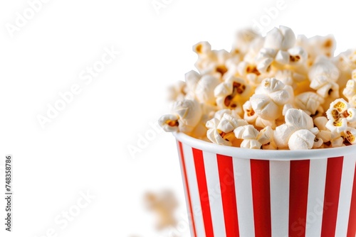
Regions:
M 342 177 L 340 186 L 339 206 L 337 209 L 337 221 L 335 236 L 346 236 L 349 224 L 352 186 L 355 173 L 355 155 L 344 158 L 342 165 Z

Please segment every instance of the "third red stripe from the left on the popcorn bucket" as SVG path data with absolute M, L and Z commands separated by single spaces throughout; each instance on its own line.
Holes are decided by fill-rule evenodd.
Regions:
M 221 199 L 223 203 L 226 237 L 239 237 L 239 220 L 235 193 L 232 157 L 216 155 L 219 169 Z

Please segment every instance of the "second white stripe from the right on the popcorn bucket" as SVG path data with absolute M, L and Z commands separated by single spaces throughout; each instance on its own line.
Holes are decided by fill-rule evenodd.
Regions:
M 321 235 L 327 162 L 328 159 L 310 160 L 305 237 Z

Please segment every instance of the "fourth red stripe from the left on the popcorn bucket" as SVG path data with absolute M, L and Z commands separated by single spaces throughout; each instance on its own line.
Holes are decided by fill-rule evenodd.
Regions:
M 250 160 L 255 237 L 269 237 L 271 230 L 271 192 L 268 160 Z

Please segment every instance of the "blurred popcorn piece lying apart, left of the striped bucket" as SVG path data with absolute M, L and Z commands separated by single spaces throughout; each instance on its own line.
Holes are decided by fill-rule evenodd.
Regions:
M 145 205 L 157 214 L 157 229 L 169 228 L 177 225 L 174 211 L 178 203 L 174 194 L 164 190 L 159 193 L 148 192 L 145 194 Z

